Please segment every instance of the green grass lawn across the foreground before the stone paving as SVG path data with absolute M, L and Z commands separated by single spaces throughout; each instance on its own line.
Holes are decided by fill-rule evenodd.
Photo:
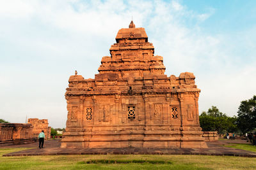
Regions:
M 0 149 L 0 169 L 256 169 L 256 158 L 207 155 L 56 155 L 3 157 L 4 153 L 28 148 Z M 91 160 L 91 164 L 86 161 Z M 97 160 L 99 160 L 97 162 Z M 118 164 L 102 164 L 116 160 Z M 138 163 L 133 163 L 135 162 Z M 140 163 L 154 160 L 153 163 Z M 123 164 L 122 162 L 131 162 Z M 97 162 L 97 163 L 95 163 Z M 150 162 L 150 161 L 148 161 Z M 168 162 L 168 163 L 164 163 Z

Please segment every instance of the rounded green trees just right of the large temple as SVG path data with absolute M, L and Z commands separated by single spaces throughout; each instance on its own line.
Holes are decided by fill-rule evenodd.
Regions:
M 203 111 L 199 120 L 203 131 L 218 131 L 218 134 L 237 131 L 236 117 L 228 117 L 216 106 L 212 106 L 207 112 Z

